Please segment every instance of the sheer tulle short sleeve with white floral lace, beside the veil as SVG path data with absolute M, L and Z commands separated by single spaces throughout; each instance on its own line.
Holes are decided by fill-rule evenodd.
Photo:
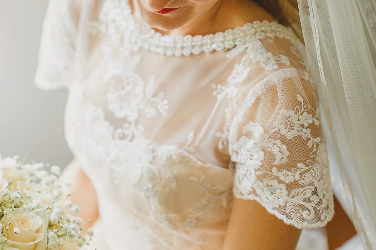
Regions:
M 264 71 L 235 99 L 228 136 L 234 195 L 258 201 L 297 228 L 324 226 L 334 213 L 333 195 L 314 90 L 307 72 L 291 67 L 291 58 L 281 56 L 274 66 L 264 62 L 235 66 L 243 74 Z

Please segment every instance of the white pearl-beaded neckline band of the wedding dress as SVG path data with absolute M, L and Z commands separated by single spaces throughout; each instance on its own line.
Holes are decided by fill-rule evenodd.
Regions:
M 123 34 L 124 44 L 133 51 L 140 48 L 168 56 L 200 54 L 203 52 L 224 52 L 234 46 L 244 45 L 264 37 L 280 37 L 293 40 L 293 31 L 277 22 L 254 21 L 233 30 L 205 36 L 162 35 L 152 28 L 139 25 L 132 14 L 130 4 L 124 0 L 108 0 L 103 3 L 100 22 L 92 23 L 95 32 L 108 33 L 112 37 Z

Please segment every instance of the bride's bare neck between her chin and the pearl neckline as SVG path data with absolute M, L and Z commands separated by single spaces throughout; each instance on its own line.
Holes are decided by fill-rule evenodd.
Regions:
M 129 2 L 136 21 L 141 25 L 150 27 L 141 18 L 133 1 L 130 0 Z M 182 36 L 191 34 L 195 36 L 233 29 L 257 20 L 275 21 L 268 12 L 251 0 L 218 0 L 211 9 L 191 19 L 180 28 L 168 31 L 154 29 L 162 34 Z

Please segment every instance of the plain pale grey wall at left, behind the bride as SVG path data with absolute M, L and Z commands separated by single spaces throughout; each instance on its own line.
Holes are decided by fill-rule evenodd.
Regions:
M 48 0 L 0 0 L 0 152 L 65 167 L 73 158 L 63 133 L 66 90 L 33 84 Z

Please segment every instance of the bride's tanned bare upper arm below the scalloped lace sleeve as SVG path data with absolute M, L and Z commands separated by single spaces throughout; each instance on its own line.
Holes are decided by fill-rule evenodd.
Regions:
M 234 198 L 223 250 L 294 250 L 300 231 L 257 201 Z

